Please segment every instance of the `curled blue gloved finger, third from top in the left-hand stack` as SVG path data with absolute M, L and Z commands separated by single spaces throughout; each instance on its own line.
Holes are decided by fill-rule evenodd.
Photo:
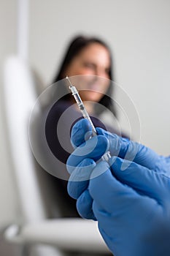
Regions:
M 71 197 L 77 199 L 88 188 L 90 174 L 95 166 L 96 162 L 87 158 L 74 168 L 67 184 L 67 191 Z

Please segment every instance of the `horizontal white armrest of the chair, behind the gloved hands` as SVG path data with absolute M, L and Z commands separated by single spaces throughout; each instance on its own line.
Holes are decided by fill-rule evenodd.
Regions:
M 69 251 L 109 252 L 97 222 L 87 219 L 48 219 L 28 223 L 13 234 L 9 228 L 4 235 L 14 243 L 50 244 Z

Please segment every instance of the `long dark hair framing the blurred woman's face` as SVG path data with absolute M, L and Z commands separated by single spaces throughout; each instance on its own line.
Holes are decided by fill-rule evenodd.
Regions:
M 109 50 L 109 47 L 105 42 L 103 42 L 101 39 L 98 39 L 96 37 L 84 37 L 84 36 L 78 36 L 75 37 L 72 42 L 70 42 L 69 48 L 66 51 L 66 54 L 63 58 L 63 61 L 61 62 L 61 66 L 58 70 L 58 73 L 55 75 L 55 78 L 53 79 L 53 83 L 58 82 L 58 80 L 61 80 L 65 78 L 64 76 L 65 71 L 67 67 L 69 67 L 69 64 L 71 63 L 72 59 L 74 59 L 75 56 L 77 56 L 80 51 L 90 45 L 91 43 L 98 43 L 100 45 L 103 45 L 104 48 L 106 48 L 109 51 L 109 56 L 110 56 L 110 69 L 109 69 L 109 79 L 113 80 L 113 67 L 112 67 L 112 54 L 111 51 Z M 70 95 L 68 94 L 68 91 L 64 86 L 60 87 L 59 90 L 62 90 L 63 94 L 67 94 L 65 99 L 70 99 Z M 104 105 L 104 107 L 108 108 L 109 110 L 112 111 L 112 113 L 117 116 L 117 113 L 115 111 L 115 105 L 112 100 L 112 93 L 113 93 L 113 86 L 110 83 L 109 89 L 107 90 L 106 95 L 101 98 L 101 100 L 98 102 L 99 105 Z M 109 95 L 110 97 L 108 97 Z M 96 113 L 101 113 L 103 108 L 96 110 Z

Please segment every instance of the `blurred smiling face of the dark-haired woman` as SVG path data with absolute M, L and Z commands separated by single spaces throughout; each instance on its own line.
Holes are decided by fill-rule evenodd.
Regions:
M 109 71 L 109 51 L 103 45 L 93 42 L 72 59 L 65 75 L 89 75 L 80 77 L 79 83 L 74 85 L 80 91 L 83 101 L 98 102 L 109 88 Z

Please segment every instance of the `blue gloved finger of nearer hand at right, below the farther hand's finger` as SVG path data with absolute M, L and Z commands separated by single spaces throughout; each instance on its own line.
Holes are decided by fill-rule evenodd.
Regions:
M 110 159 L 111 161 L 113 162 L 112 173 L 120 182 L 132 187 L 142 195 L 155 199 L 158 203 L 161 203 L 163 199 L 166 200 L 164 194 L 167 194 L 165 191 L 169 188 L 169 178 L 135 162 L 128 162 L 118 157 L 113 157 Z M 125 168 L 125 164 L 127 164 L 127 168 Z

